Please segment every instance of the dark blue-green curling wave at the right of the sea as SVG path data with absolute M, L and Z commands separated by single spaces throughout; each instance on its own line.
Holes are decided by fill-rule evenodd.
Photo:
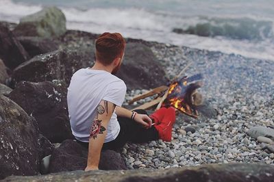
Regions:
M 256 21 L 251 18 L 214 18 L 206 23 L 198 23 L 186 29 L 175 28 L 178 34 L 194 34 L 197 36 L 216 37 L 238 40 L 265 40 L 274 38 L 273 22 Z

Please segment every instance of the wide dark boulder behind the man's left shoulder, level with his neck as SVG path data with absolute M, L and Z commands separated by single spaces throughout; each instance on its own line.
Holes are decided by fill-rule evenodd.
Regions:
M 93 55 L 92 49 L 62 49 L 36 55 L 14 69 L 12 86 L 19 81 L 40 82 L 53 79 L 65 81 L 66 86 L 69 86 L 75 71 L 93 64 Z

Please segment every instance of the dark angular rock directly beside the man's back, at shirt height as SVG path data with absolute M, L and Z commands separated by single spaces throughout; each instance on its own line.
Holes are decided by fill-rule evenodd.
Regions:
M 66 102 L 66 87 L 49 81 L 22 81 L 8 95 L 27 114 L 36 118 L 43 135 L 53 143 L 73 138 Z

